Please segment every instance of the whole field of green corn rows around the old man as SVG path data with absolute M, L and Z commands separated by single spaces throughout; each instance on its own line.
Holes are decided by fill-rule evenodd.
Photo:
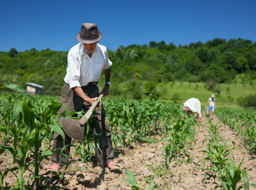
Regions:
M 54 152 L 64 155 L 62 152 L 66 148 L 64 146 L 63 149 L 52 150 L 54 132 L 65 138 L 62 126 L 58 124 L 59 118 L 57 118 L 57 112 L 62 106 L 59 103 L 59 97 L 31 96 L 15 84 L 3 86 L 0 90 L 6 88 L 13 92 L 1 92 L 0 95 L 0 155 L 5 159 L 9 158 L 9 161 L 0 160 L 0 189 L 87 189 L 90 187 L 90 180 L 88 182 L 84 179 L 89 175 L 86 173 L 88 168 L 86 167 L 86 171 L 83 168 L 86 165 L 90 166 L 95 160 L 90 122 L 86 126 L 88 128 L 87 140 L 84 142 L 73 140 L 72 142 L 73 154 L 69 158 L 71 162 L 62 171 L 47 172 L 42 165 L 50 164 L 50 156 Z M 105 176 L 115 174 L 122 176 L 120 180 L 115 181 L 114 186 L 105 189 L 172 189 L 170 181 L 178 176 L 175 170 L 173 171 L 173 163 L 178 163 L 179 167 L 193 164 L 195 152 L 193 153 L 192 150 L 202 127 L 209 131 L 209 135 L 202 142 L 202 145 L 206 145 L 205 149 L 197 151 L 201 152 L 203 158 L 198 159 L 197 162 L 194 161 L 191 173 L 194 173 L 194 170 L 203 162 L 201 168 L 206 170 L 203 174 L 206 183 L 207 175 L 212 175 L 214 180 L 219 181 L 218 185 L 214 186 L 216 189 L 236 190 L 255 186 L 254 183 L 249 183 L 247 171 L 240 169 L 244 156 L 237 164 L 238 167 L 235 163 L 232 151 L 241 152 L 241 150 L 235 146 L 234 142 L 228 145 L 229 141 L 221 136 L 221 127 L 213 124 L 211 120 L 207 120 L 205 126 L 199 125 L 194 117 L 187 117 L 181 111 L 182 105 L 163 103 L 154 99 L 147 102 L 106 98 L 103 99 L 103 104 L 112 130 L 111 139 L 115 159 L 126 165 L 121 169 L 122 175 L 118 172 L 111 174 L 103 169 L 106 172 Z M 84 111 L 77 113 L 78 117 L 75 119 L 79 119 L 84 113 Z M 65 109 L 62 117 L 67 117 L 67 115 Z M 255 112 L 237 112 L 219 108 L 218 117 L 224 127 L 227 126 L 234 130 L 237 136 L 243 139 L 245 148 L 248 147 L 250 153 L 255 154 Z M 135 151 L 135 147 L 142 148 L 146 144 L 151 147 L 150 153 L 144 155 L 143 152 Z M 133 159 L 128 161 L 125 152 L 134 154 Z M 135 174 L 136 167 L 125 164 L 127 162 L 135 164 L 133 160 L 137 159 L 137 154 L 149 156 L 148 160 L 137 165 L 137 168 L 147 170 L 145 175 L 139 179 L 136 178 L 140 176 Z M 161 159 L 153 162 L 154 158 L 150 157 L 153 154 Z M 77 162 L 82 165 L 76 165 Z M 78 167 L 73 168 L 73 165 Z M 83 183 L 77 180 L 72 188 L 70 185 L 72 180 L 68 181 L 68 178 L 82 171 Z M 76 177 L 78 178 L 79 175 Z M 8 180 L 10 176 L 15 180 Z M 177 178 L 179 181 L 184 177 Z M 91 184 L 93 188 L 96 182 Z M 123 186 L 124 184 L 126 185 Z M 101 186 L 97 185 L 95 189 L 100 189 Z

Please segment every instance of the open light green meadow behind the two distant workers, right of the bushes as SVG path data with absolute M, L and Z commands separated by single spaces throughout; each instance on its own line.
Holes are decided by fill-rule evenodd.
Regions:
M 254 81 L 254 84 L 255 81 Z M 256 94 L 256 85 L 253 84 L 218 84 L 220 88 L 220 96 L 216 95 L 216 107 L 228 107 L 239 108 L 237 105 L 237 98 L 240 96 L 246 96 L 249 94 Z M 227 91 L 229 88 L 229 93 Z M 208 90 L 205 87 L 205 83 L 189 83 L 176 81 L 166 84 L 160 84 L 157 86 L 157 91 L 160 93 L 159 101 L 172 102 L 173 94 L 177 93 L 180 101 L 178 103 L 184 103 L 187 99 L 192 97 L 201 101 L 202 106 L 207 105 L 208 98 L 211 97 L 213 91 Z M 230 99 L 228 98 L 230 96 Z

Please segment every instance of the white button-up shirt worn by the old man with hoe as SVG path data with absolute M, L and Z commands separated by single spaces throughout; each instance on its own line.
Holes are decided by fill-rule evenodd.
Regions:
M 64 81 L 73 87 L 83 87 L 88 82 L 97 82 L 100 79 L 102 68 L 111 67 L 112 62 L 108 59 L 107 48 L 97 44 L 92 58 L 83 51 L 81 43 L 75 45 L 68 53 L 68 67 Z

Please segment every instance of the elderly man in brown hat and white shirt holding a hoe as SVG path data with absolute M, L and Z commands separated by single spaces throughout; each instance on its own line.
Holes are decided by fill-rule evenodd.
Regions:
M 88 110 L 99 96 L 98 80 L 104 68 L 105 85 L 101 93 L 104 96 L 109 94 L 110 74 L 112 62 L 108 59 L 107 48 L 98 44 L 102 33 L 98 31 L 95 23 L 83 23 L 81 31 L 76 35 L 80 42 L 69 50 L 68 67 L 64 77 L 64 86 L 61 91 L 60 103 L 68 107 L 69 112 Z M 58 116 L 64 111 L 59 110 Z M 105 115 L 104 108 L 100 102 L 96 108 L 95 119 L 92 123 L 93 134 L 95 135 L 95 150 L 100 167 L 108 167 L 109 170 L 120 168 L 114 162 L 114 152 L 111 143 L 111 129 Z M 100 136 L 98 134 L 101 134 Z M 66 136 L 65 145 L 71 144 L 71 138 Z M 99 143 L 99 147 L 97 146 Z M 55 133 L 53 149 L 63 148 L 62 137 Z M 70 146 L 67 146 L 65 154 L 69 155 Z M 60 167 L 69 162 L 68 158 L 59 154 L 52 154 L 52 166 L 48 171 L 57 171 Z

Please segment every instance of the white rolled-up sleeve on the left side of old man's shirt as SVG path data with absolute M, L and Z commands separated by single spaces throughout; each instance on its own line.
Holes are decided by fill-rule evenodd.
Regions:
M 79 82 L 80 79 L 80 66 L 78 58 L 74 57 L 72 54 L 68 54 L 68 70 L 69 73 L 69 87 L 81 87 Z

